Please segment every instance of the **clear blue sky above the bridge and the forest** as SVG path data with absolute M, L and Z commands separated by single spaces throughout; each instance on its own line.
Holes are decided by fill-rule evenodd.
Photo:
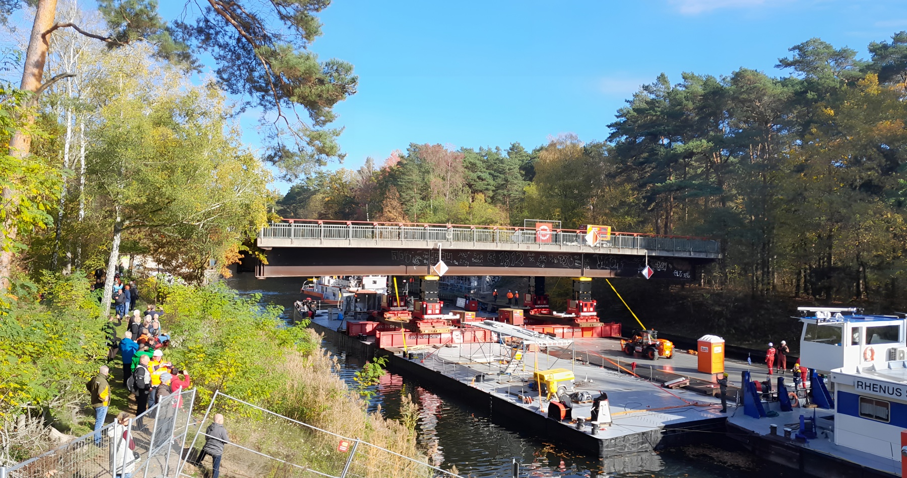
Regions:
M 410 142 L 606 139 L 624 100 L 660 72 L 782 74 L 778 57 L 814 36 L 868 56 L 868 43 L 907 30 L 907 2 L 335 0 L 321 18 L 312 50 L 359 75 L 336 107 L 342 166 L 356 168 Z

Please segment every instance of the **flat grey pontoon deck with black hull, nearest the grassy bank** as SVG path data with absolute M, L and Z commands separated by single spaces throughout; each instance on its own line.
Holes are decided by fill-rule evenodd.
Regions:
M 505 374 L 502 372 L 508 364 L 504 362 L 512 357 L 512 349 L 496 341 L 407 347 L 404 355 L 401 348 L 378 349 L 374 336 L 350 337 L 337 331 L 342 329 L 340 321 L 327 315 L 317 315 L 313 326 L 329 333 L 328 338 L 365 353 L 386 355 L 389 366 L 405 375 L 433 383 L 475 406 L 487 406 L 495 423 L 599 456 L 608 472 L 638 471 L 639 463 L 646 462 L 646 456 L 656 449 L 697 442 L 708 435 L 701 432 L 724 431 L 725 414 L 719 412 L 717 398 L 668 390 L 642 378 L 590 365 L 579 354 L 574 359 L 570 349 L 561 349 L 568 354 L 561 358 L 529 350 L 522 364 Z M 407 358 L 409 352 L 413 358 Z M 549 418 L 549 400 L 540 399 L 539 391 L 529 387 L 533 370 L 548 368 L 571 370 L 577 382 L 574 391 L 586 391 L 592 397 L 607 392 L 611 423 L 591 435 L 588 423 L 584 430 L 578 430 L 575 422 Z M 530 403 L 524 403 L 527 398 Z M 572 416 L 588 420 L 591 406 L 572 404 Z

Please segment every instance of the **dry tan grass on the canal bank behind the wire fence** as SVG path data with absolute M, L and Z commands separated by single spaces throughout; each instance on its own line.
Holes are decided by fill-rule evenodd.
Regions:
M 332 373 L 336 367 L 336 359 L 321 349 L 307 355 L 290 354 L 283 364 L 286 381 L 272 392 L 264 406 L 300 422 L 337 435 L 359 438 L 416 460 L 360 444 L 347 476 L 424 478 L 439 474 L 425 465 L 425 450 L 416 444 L 412 424 L 407 426 L 380 413 L 368 414 L 364 401 Z M 242 421 L 238 423 L 238 420 Z M 349 456 L 348 452 L 336 451 L 339 441 L 336 436 L 278 417 L 237 418 L 228 428 L 231 438 L 239 445 L 320 473 L 338 476 Z M 230 447 L 229 453 L 224 454 L 223 466 L 228 473 L 239 476 L 288 478 L 311 474 L 236 447 Z

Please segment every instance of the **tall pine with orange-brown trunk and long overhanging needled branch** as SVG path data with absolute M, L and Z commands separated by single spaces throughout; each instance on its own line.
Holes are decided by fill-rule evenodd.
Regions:
M 25 0 L 2 0 L 0 21 L 6 22 Z M 71 29 L 111 48 L 137 42 L 153 45 L 157 58 L 188 70 L 200 68 L 193 51 L 206 51 L 216 63 L 220 87 L 242 95 L 242 106 L 264 110 L 262 124 L 270 139 L 268 160 L 286 177 L 343 158 L 336 137 L 341 129 L 330 127 L 336 119 L 338 101 L 356 92 L 358 78 L 347 62 L 322 62 L 308 48 L 321 34 L 317 13 L 327 7 L 324 0 L 255 2 L 252 0 L 208 0 L 186 2 L 179 21 L 168 24 L 158 14 L 154 0 L 100 0 L 99 10 L 107 27 L 91 32 L 73 22 L 55 22 L 57 0 L 32 0 L 34 24 L 25 52 L 20 89 L 34 93 L 36 100 L 57 75 L 44 81 L 44 68 L 52 35 Z M 298 109 L 298 110 L 297 110 Z M 34 124 L 27 117 L 25 127 Z M 10 156 L 27 157 L 31 151 L 28 128 L 15 132 L 9 141 Z M 5 202 L 15 203 L 15 182 L 6 182 Z M 15 205 L 14 205 L 15 206 Z M 0 244 L 15 243 L 15 220 L 6 218 L 0 230 Z M 0 290 L 9 287 L 14 251 L 0 251 Z

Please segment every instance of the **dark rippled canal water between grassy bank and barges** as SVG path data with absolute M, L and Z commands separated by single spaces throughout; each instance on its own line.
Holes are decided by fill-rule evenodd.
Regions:
M 288 308 L 288 317 L 302 285 L 302 281 L 292 278 L 258 280 L 250 273 L 237 274 L 227 282 L 242 294 L 259 293 L 262 302 L 283 305 Z M 327 340 L 323 345 L 338 358 L 339 377 L 353 385 L 353 375 L 362 368 L 366 358 L 347 354 Z M 482 410 L 444 390 L 424 387 L 413 378 L 388 373 L 375 386 L 375 392 L 369 408 L 375 411 L 380 407 L 381 413 L 389 417 L 398 416 L 402 397 L 412 397 L 420 409 L 419 440 L 426 449 L 437 450 L 433 458 L 439 466 L 444 469 L 456 466 L 462 476 L 510 477 L 514 458 L 522 465 L 520 476 L 762 478 L 766 474 L 794 475 L 722 445 L 690 445 L 637 456 L 629 471 L 612 472 L 614 466 L 622 468 L 626 464 L 603 464 L 595 456 L 571 453 L 563 445 L 546 442 L 544 437 L 494 424 Z M 707 438 L 712 444 L 722 443 L 720 434 Z

